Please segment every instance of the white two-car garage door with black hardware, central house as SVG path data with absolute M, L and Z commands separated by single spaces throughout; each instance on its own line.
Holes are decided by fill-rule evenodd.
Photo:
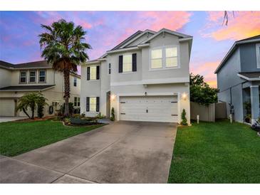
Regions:
M 177 122 L 177 96 L 120 97 L 120 120 Z

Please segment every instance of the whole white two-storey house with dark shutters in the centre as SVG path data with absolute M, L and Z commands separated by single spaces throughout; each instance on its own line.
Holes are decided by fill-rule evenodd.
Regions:
M 137 31 L 97 60 L 82 65 L 80 110 L 116 120 L 189 122 L 192 36 L 165 28 Z

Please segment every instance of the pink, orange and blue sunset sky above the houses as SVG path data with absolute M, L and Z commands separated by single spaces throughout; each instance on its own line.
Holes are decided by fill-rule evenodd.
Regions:
M 204 75 L 216 87 L 214 70 L 234 41 L 260 34 L 260 11 L 0 11 L 0 60 L 24 63 L 41 60 L 38 34 L 41 23 L 58 19 L 74 21 L 87 31 L 93 47 L 90 60 L 98 58 L 138 30 L 169 28 L 193 36 L 190 71 Z

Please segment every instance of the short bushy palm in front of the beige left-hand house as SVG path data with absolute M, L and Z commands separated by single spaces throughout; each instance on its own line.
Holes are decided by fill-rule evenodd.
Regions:
M 19 99 L 19 104 L 16 107 L 16 111 L 20 110 L 20 111 L 24 111 L 24 113 L 31 119 L 34 118 L 34 110 L 36 109 L 36 107 L 38 107 L 38 109 L 42 109 L 45 105 L 48 105 L 46 103 L 46 98 L 43 97 L 43 95 L 41 93 L 38 92 L 32 92 L 32 93 L 27 93 L 26 95 L 23 95 L 20 99 Z M 28 107 L 31 109 L 31 117 L 30 115 L 28 115 Z M 41 112 L 42 112 L 41 110 Z M 40 113 L 41 114 L 41 113 Z M 42 116 L 39 116 L 42 117 Z

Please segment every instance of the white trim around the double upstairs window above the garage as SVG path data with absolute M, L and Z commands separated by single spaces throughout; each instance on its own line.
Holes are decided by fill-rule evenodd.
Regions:
M 176 67 L 166 67 L 166 55 L 165 55 L 165 49 L 166 48 L 173 48 L 177 47 L 177 63 L 178 65 Z M 162 49 L 162 68 L 152 68 L 152 50 L 155 49 Z M 149 50 L 149 71 L 157 71 L 157 70 L 169 70 L 169 69 L 177 69 L 180 68 L 180 45 L 169 45 L 169 46 L 160 46 L 156 48 L 150 48 Z

